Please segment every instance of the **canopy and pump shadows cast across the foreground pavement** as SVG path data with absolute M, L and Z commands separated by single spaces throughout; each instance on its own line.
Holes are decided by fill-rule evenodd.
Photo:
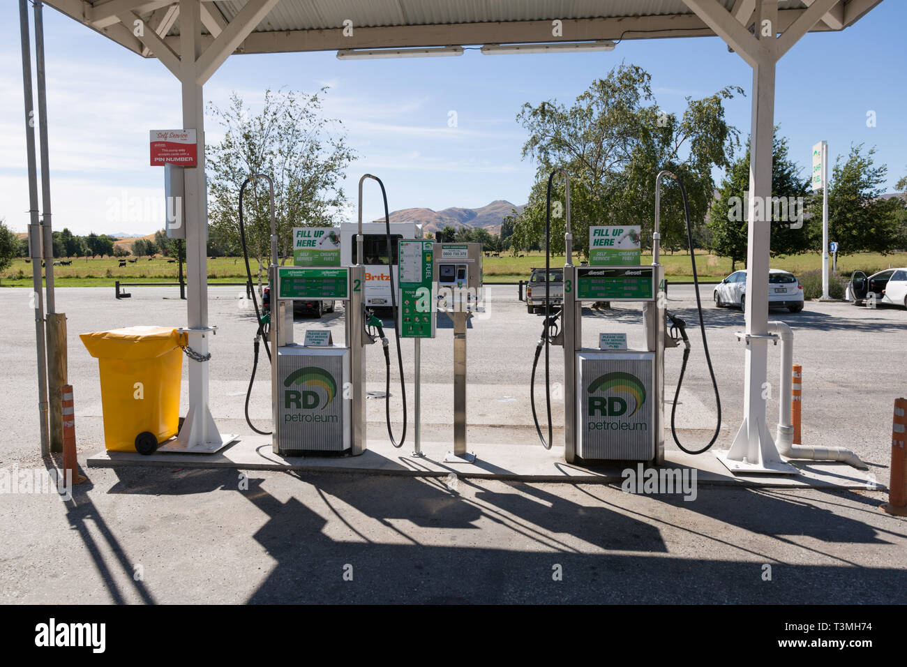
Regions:
M 237 489 L 234 470 L 180 472 L 167 479 L 118 469 L 111 492 Z M 835 514 L 840 494 L 824 502 L 712 487 L 694 502 L 651 496 L 637 511 L 624 505 L 639 503 L 609 486 L 562 486 L 582 492 L 573 501 L 522 483 L 493 491 L 463 479 L 447 486 L 441 478 L 288 475 L 298 486 L 287 500 L 269 494 L 263 478 L 250 477 L 239 491 L 266 517 L 251 536 L 276 561 L 250 603 L 903 603 L 907 596 L 901 564 L 855 565 L 822 548 L 889 542 L 880 537 L 888 531 Z M 347 533 L 343 539 L 326 535 L 326 517 L 300 500 L 311 493 L 307 486 L 327 508 L 322 514 L 339 522 L 331 522 L 332 534 Z M 470 486 L 474 497 L 459 493 Z M 745 532 L 706 534 L 686 510 Z M 892 535 L 902 539 L 907 528 L 898 527 L 892 523 Z M 426 529 L 437 530 L 427 534 L 430 544 Z M 697 557 L 669 557 L 666 531 L 675 542 L 701 544 Z M 777 541 L 772 555 L 754 546 L 765 548 L 761 536 Z M 764 564 L 772 565 L 772 581 L 764 580 Z

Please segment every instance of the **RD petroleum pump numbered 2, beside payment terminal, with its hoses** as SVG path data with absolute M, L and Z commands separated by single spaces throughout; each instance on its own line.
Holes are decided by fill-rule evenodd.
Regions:
M 272 436 L 273 450 L 285 456 L 310 453 L 359 455 L 366 450 L 366 345 L 382 341 L 387 372 L 386 400 L 390 398 L 390 356 L 383 323 L 365 308 L 365 267 L 362 257 L 362 185 L 366 178 L 381 186 L 385 201 L 385 223 L 390 249 L 390 228 L 384 183 L 366 174 L 359 181 L 359 233 L 356 236 L 357 263 L 346 267 L 279 266 L 278 238 L 274 214 L 274 189 L 270 177 L 249 177 L 239 189 L 239 232 L 246 258 L 249 289 L 252 289 L 249 253 L 242 215 L 242 194 L 250 181 L 265 179 L 270 186 L 271 264 L 268 267 L 270 303 L 267 313 L 258 309 L 252 289 L 258 330 L 254 339 L 254 361 L 246 394 L 246 420 L 256 433 Z M 391 281 L 393 285 L 393 272 Z M 332 333 L 309 329 L 297 341 L 293 322 L 295 300 L 334 300 L 344 303 L 344 340 L 337 344 Z M 394 317 L 398 312 L 392 289 Z M 395 327 L 397 329 L 397 327 Z M 259 340 L 271 361 L 271 406 L 273 430 L 262 431 L 249 420 L 249 395 L 258 368 Z M 270 345 L 268 345 L 268 342 Z M 390 407 L 386 408 L 387 430 L 394 446 L 402 446 L 406 433 L 405 384 L 403 359 L 397 333 L 397 359 L 404 400 L 404 431 L 396 442 L 390 426 Z

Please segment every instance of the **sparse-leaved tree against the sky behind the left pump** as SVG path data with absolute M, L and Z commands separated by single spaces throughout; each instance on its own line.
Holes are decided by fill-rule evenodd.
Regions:
M 341 123 L 322 115 L 327 88 L 305 94 L 265 92 L 261 113 L 252 114 L 237 93 L 227 108 L 209 111 L 224 138 L 208 153 L 210 228 L 231 249 L 239 249 L 239 187 L 250 174 L 274 179 L 278 253 L 292 253 L 294 227 L 331 227 L 340 221 L 346 195 L 340 185 L 356 153 L 339 133 Z M 270 256 L 267 181 L 253 181 L 243 196 L 249 256 L 258 260 L 258 278 Z

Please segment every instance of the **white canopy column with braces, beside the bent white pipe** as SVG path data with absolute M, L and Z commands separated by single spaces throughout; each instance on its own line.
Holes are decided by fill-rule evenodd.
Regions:
M 734 443 L 718 458 L 734 473 L 795 474 L 794 466 L 778 455 L 766 425 L 768 343 L 768 260 L 771 247 L 772 156 L 775 127 L 775 64 L 797 40 L 823 19 L 838 0 L 814 0 L 809 8 L 778 36 L 777 0 L 739 2 L 735 14 L 716 0 L 684 0 L 715 34 L 725 40 L 753 68 L 753 113 L 749 162 L 749 230 L 746 249 L 746 332 L 737 334 L 746 344 L 744 417 Z M 738 20 L 739 19 L 739 20 Z M 749 25 L 755 20 L 755 34 Z M 757 205 L 761 204 L 761 205 Z

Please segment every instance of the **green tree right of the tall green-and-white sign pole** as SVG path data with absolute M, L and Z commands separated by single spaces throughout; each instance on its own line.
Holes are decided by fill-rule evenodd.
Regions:
M 887 254 L 898 245 L 897 212 L 903 208 L 896 197 L 883 199 L 882 187 L 888 168 L 875 166 L 875 147 L 863 152 L 863 143 L 852 145 L 847 160 L 838 156 L 828 181 L 828 234 L 837 241 L 838 254 L 869 251 Z M 822 191 L 808 209 L 813 247 L 822 244 Z

